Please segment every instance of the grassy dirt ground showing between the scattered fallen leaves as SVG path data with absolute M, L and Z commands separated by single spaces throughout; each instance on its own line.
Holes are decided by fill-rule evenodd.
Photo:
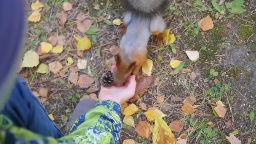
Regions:
M 109 21 L 115 18 L 122 19 L 125 11 L 119 0 L 69 0 L 69 3 L 73 4 L 73 9 L 68 13 L 65 29 L 61 29 L 56 13 L 61 11 L 64 1 L 67 0 L 41 1 L 48 7 L 43 9 L 40 22 L 28 23 L 26 48 L 37 51 L 40 42 L 47 41 L 51 35 L 64 35 L 67 44 L 64 46 L 64 52 L 57 56 L 49 56 L 40 62 L 49 64 L 52 61 L 60 61 L 65 65 L 67 57 L 76 60 L 78 56 L 73 36 L 88 36 L 92 39 L 92 35 L 77 31 L 76 16 L 80 12 L 89 13 L 89 18 L 99 31 L 92 48 L 84 52 L 84 58 L 88 61 L 87 68 L 80 70 L 79 73 L 92 77 L 96 81 L 91 87 L 99 88 L 99 79 L 104 70 L 108 69 L 108 60 L 113 57 L 107 49 L 112 45 L 118 45 L 121 38 L 120 26 L 109 24 Z M 31 13 L 32 2 L 34 0 L 28 0 L 28 14 Z M 164 120 L 168 124 L 173 120 L 181 120 L 184 131 L 175 133 L 175 136 L 187 134 L 188 144 L 227 144 L 226 136 L 232 132 L 243 144 L 249 138 L 252 139 L 252 144 L 256 144 L 256 120 L 251 121 L 249 118 L 251 111 L 256 112 L 256 1 L 245 0 L 243 8 L 247 11 L 243 14 L 230 16 L 226 10 L 218 19 L 216 10 L 203 11 L 195 6 L 197 2 L 202 2 L 207 8 L 213 8 L 211 0 L 171 0 L 163 16 L 167 27 L 176 35 L 176 41 L 171 46 L 163 47 L 157 47 L 153 37 L 149 41 L 148 58 L 153 60 L 154 82 L 147 93 L 140 96 L 140 101 L 144 102 L 147 108 L 159 108 L 167 115 Z M 95 4 L 100 5 L 100 10 L 94 8 Z M 202 32 L 198 28 L 198 20 L 207 15 L 213 18 L 214 27 Z M 37 29 L 40 30 L 39 35 L 35 33 Z M 176 50 L 176 54 L 173 53 L 173 49 Z M 200 58 L 191 62 L 185 53 L 187 50 L 199 51 Z M 197 75 L 195 80 L 191 80 L 190 73 L 171 75 L 171 59 L 183 61 L 184 68 Z M 71 84 L 68 81 L 69 72 L 61 77 L 51 72 L 38 74 L 35 72 L 36 69 L 23 68 L 20 75 L 26 79 L 32 91 L 37 91 L 41 87 L 48 88 L 48 98 L 39 99 L 47 112 L 53 114 L 55 123 L 66 133 L 65 125 L 80 97 L 90 93 L 78 85 Z M 211 69 L 219 75 L 210 75 Z M 208 78 L 208 82 L 205 82 L 205 78 Z M 229 91 L 221 93 L 219 97 L 209 92 L 210 88 L 216 88 L 216 80 L 221 82 L 221 88 L 225 84 L 231 84 Z M 93 93 L 97 94 L 98 91 Z M 68 96 L 75 99 L 67 99 Z M 160 103 L 157 100 L 158 96 L 165 96 L 165 101 Z M 181 111 L 182 102 L 175 101 L 176 97 L 185 99 L 187 96 L 195 96 L 196 105 L 200 105 L 197 111 L 189 116 Z M 216 117 L 212 112 L 210 104 L 216 100 L 221 100 L 226 105 L 227 114 L 224 118 Z M 142 112 L 144 111 L 133 115 L 135 123 L 147 121 Z M 226 125 L 228 121 L 232 123 L 231 127 Z M 212 122 L 213 126 L 210 127 L 208 122 Z M 210 132 L 204 131 L 205 128 Z M 125 139 L 134 139 L 142 144 L 152 143 L 152 140 L 138 136 L 135 129 L 128 125 L 124 125 L 120 142 Z

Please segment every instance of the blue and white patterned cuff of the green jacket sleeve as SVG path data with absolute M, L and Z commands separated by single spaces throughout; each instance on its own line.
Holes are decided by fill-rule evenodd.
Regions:
M 115 101 L 111 101 L 111 100 L 99 101 L 95 104 L 95 107 L 98 107 L 98 106 L 104 106 L 108 110 L 116 112 L 117 115 L 121 117 L 121 106 Z

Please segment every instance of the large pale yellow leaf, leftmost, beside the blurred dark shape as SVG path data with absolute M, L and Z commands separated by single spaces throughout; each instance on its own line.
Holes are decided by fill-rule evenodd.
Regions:
M 39 64 L 39 56 L 35 51 L 25 53 L 21 67 L 36 67 Z

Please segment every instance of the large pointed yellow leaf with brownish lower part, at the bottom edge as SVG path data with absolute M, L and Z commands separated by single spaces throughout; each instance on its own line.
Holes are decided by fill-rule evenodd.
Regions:
M 160 117 L 156 116 L 155 127 L 153 129 L 153 144 L 176 144 L 176 139 L 171 128 Z

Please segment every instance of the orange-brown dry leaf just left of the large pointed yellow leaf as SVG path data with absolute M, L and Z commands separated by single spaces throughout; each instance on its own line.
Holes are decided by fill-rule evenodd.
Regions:
M 140 121 L 136 125 L 135 131 L 139 136 L 150 139 L 150 127 L 151 125 L 147 121 Z

